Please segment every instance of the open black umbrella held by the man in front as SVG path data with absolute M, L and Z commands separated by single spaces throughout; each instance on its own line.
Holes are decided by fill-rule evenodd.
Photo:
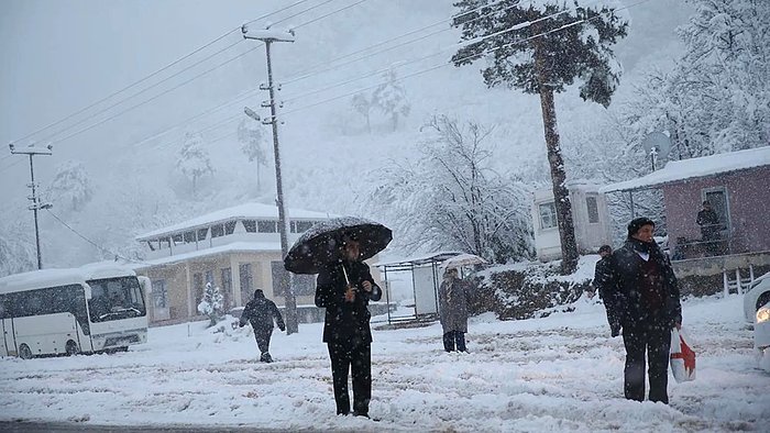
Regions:
M 359 242 L 362 260 L 385 249 L 393 238 L 391 229 L 363 218 L 322 221 L 299 236 L 284 258 L 284 267 L 295 274 L 318 274 L 323 265 L 340 258 L 344 235 Z

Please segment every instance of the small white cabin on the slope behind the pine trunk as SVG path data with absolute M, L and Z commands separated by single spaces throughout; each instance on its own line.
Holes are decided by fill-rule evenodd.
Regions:
M 612 241 L 607 201 L 604 193 L 598 192 L 600 187 L 586 180 L 566 184 L 572 203 L 575 241 L 581 254 L 595 253 L 600 246 Z M 561 240 L 552 188 L 535 191 L 531 212 L 538 258 L 542 262 L 561 258 Z

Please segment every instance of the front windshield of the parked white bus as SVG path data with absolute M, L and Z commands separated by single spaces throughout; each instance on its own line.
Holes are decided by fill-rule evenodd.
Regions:
M 144 297 L 136 277 L 118 277 L 87 281 L 91 322 L 106 322 L 146 315 Z

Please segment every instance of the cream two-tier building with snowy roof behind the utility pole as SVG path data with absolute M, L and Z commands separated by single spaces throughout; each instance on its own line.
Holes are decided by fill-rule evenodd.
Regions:
M 336 215 L 289 209 L 289 246 L 314 223 Z M 136 237 L 147 259 L 136 268 L 153 285 L 152 322 L 185 321 L 197 317 L 207 282 L 219 287 L 226 309 L 244 306 L 254 290 L 284 304 L 277 285 L 285 273 L 275 206 L 245 203 L 145 233 Z M 315 276 L 294 278 L 300 321 L 316 320 Z

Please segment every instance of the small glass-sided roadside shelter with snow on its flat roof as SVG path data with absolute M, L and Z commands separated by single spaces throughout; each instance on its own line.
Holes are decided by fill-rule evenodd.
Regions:
M 385 284 L 385 300 L 387 302 L 387 322 L 431 321 L 439 312 L 439 286 L 442 276 L 439 266 L 446 259 L 463 254 L 458 251 L 438 252 L 424 256 L 409 257 L 396 262 L 378 263 L 376 266 Z M 388 274 L 409 273 L 415 295 L 415 312 L 413 314 L 393 314 L 391 312 L 392 295 Z

